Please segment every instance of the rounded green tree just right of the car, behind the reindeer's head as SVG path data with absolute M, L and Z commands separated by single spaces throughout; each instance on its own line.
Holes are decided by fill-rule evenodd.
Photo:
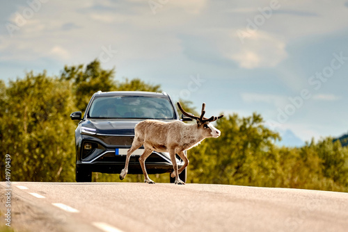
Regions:
M 276 161 L 270 151 L 272 141 L 279 135 L 262 122 L 262 117 L 255 113 L 242 119 L 229 115 L 216 121 L 221 136 L 208 138 L 189 151 L 189 181 L 264 185 L 274 178 L 276 170 L 272 164 Z

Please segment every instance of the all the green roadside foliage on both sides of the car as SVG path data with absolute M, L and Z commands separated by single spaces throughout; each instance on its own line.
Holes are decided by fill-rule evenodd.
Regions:
M 0 81 L 1 181 L 5 155 L 11 156 L 13 181 L 74 181 L 74 129 L 70 113 L 84 111 L 94 92 L 153 91 L 160 85 L 139 78 L 115 80 L 115 70 L 102 69 L 98 60 L 65 66 L 59 77 L 33 74 Z M 190 101 L 183 108 L 200 115 Z M 179 112 L 180 113 L 180 112 Z M 194 122 L 191 122 L 194 123 Z M 203 140 L 189 154 L 189 183 L 219 183 L 348 192 L 348 147 L 344 140 L 324 138 L 303 147 L 277 147 L 278 133 L 264 126 L 261 115 L 227 115 L 214 122 L 219 138 Z M 169 174 L 151 175 L 168 182 Z M 119 181 L 117 174 L 93 173 L 93 181 Z M 123 181 L 143 181 L 127 175 Z

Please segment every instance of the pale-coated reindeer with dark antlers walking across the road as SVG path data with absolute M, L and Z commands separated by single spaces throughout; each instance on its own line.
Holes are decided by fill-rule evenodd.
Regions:
M 127 151 L 125 168 L 122 169 L 120 174 L 121 180 L 127 175 L 130 156 L 136 149 L 139 149 L 139 147 L 143 145 L 145 149 L 139 158 L 139 162 L 141 169 L 143 170 L 145 183 L 155 183 L 149 178 L 148 173 L 146 172 L 145 160 L 150 156 L 150 154 L 152 154 L 152 151 L 159 151 L 169 152 L 173 163 L 171 177 L 174 178 L 175 176 L 175 184 L 184 185 L 184 182 L 179 178 L 179 174 L 182 170 L 189 165 L 189 160 L 184 154 L 184 151 L 197 146 L 205 138 L 218 138 L 221 135 L 221 132 L 210 124 L 210 122 L 220 119 L 223 115 L 220 115 L 219 117 L 204 117 L 205 103 L 203 103 L 200 117 L 185 112 L 179 102 L 177 102 L 177 106 L 179 106 L 184 115 L 195 119 L 197 124 L 185 124 L 181 121 L 162 122 L 152 119 L 136 124 L 132 147 Z M 184 165 L 182 165 L 180 169 L 177 169 L 175 154 L 184 160 Z

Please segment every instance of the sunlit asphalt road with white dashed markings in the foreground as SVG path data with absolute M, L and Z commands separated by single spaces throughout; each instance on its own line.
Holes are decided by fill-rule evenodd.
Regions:
M 169 183 L 11 188 L 11 220 L 28 231 L 348 231 L 342 192 Z M 6 183 L 0 190 L 3 196 Z

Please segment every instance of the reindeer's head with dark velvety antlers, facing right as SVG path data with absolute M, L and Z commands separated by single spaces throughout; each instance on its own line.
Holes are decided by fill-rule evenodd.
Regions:
M 180 102 L 177 102 L 177 106 L 179 106 L 179 109 L 181 112 L 187 116 L 190 117 L 191 119 L 195 119 L 197 122 L 198 129 L 203 129 L 203 133 L 205 135 L 205 138 L 213 137 L 213 138 L 218 138 L 221 135 L 221 131 L 216 129 L 210 122 L 214 122 L 217 119 L 221 119 L 223 115 L 220 115 L 219 117 L 212 116 L 212 117 L 204 117 L 205 115 L 205 103 L 202 105 L 202 113 L 200 114 L 200 117 L 197 117 L 195 115 L 191 115 L 187 113 L 181 106 Z

